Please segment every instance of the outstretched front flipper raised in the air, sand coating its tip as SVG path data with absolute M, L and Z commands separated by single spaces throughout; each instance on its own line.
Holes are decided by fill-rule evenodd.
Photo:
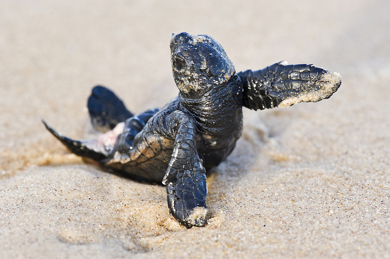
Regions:
M 341 85 L 341 76 L 312 65 L 275 63 L 265 69 L 238 73 L 243 83 L 243 106 L 252 110 L 288 107 L 327 99 Z

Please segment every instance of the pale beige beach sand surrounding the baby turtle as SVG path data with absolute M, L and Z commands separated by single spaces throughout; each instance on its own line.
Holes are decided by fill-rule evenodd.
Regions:
M 390 258 L 390 1 L 2 0 L 0 258 Z M 164 186 L 85 164 L 41 119 L 95 133 L 86 100 L 130 110 L 177 94 L 172 33 L 209 34 L 236 71 L 281 60 L 343 76 L 329 100 L 244 109 L 208 176 L 208 225 L 169 215 Z

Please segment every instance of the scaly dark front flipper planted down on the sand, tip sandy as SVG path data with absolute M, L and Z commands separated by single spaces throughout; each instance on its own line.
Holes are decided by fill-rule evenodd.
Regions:
M 184 226 L 206 224 L 206 170 L 196 148 L 195 119 L 177 111 L 178 122 L 175 147 L 168 170 L 162 181 L 167 185 L 168 207 Z

